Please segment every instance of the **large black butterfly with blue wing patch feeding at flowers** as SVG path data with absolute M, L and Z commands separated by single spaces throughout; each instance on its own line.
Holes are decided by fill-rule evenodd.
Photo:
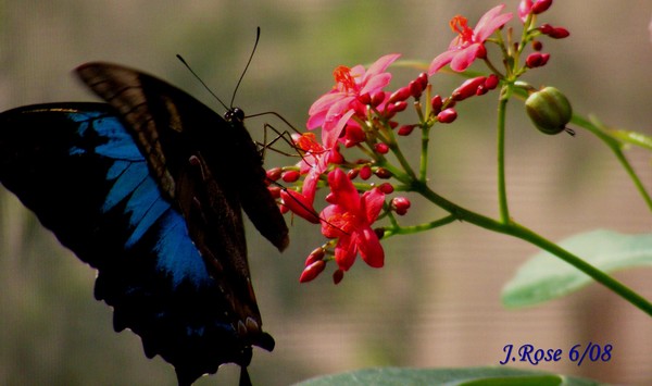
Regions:
M 242 210 L 279 250 L 288 228 L 265 184 L 243 113 L 225 117 L 140 71 L 93 62 L 76 74 L 106 103 L 0 113 L 0 182 L 62 245 L 98 270 L 148 358 L 179 385 L 274 349 L 250 278 Z

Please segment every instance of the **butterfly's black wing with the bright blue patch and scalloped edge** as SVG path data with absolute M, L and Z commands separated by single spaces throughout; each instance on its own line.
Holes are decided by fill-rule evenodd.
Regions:
M 250 295 L 235 299 L 241 295 L 238 285 L 229 287 L 235 295 L 225 295 L 228 282 L 202 257 L 220 245 L 192 238 L 202 222 L 209 224 L 204 238 L 221 229 L 216 214 L 201 215 L 212 198 L 234 213 L 239 209 L 229 201 L 231 194 L 220 196 L 201 154 L 189 160 L 174 169 L 186 186 L 175 195 L 197 199 L 180 206 L 162 192 L 160 178 L 109 105 L 42 104 L 0 114 L 0 182 L 64 246 L 98 269 L 96 297 L 113 306 L 115 329 L 140 335 L 147 356 L 172 363 L 180 384 L 214 373 L 222 363 L 247 366 L 251 345 L 274 347 L 261 329 L 249 277 L 243 286 Z M 227 227 L 241 232 L 241 216 L 234 217 Z M 241 250 L 243 235 L 234 235 L 234 248 Z M 247 267 L 246 252 L 243 262 L 238 270 Z M 237 301 L 250 304 L 241 310 L 251 320 L 234 311 Z

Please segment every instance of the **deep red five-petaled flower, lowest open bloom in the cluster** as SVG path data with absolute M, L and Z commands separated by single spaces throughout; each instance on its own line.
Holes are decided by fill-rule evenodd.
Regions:
M 335 261 L 340 270 L 348 271 L 358 252 L 368 265 L 383 266 L 385 252 L 372 224 L 383 209 L 385 194 L 375 188 L 361 197 L 339 169 L 328 174 L 328 185 L 331 194 L 327 200 L 331 204 L 322 211 L 322 234 L 328 238 L 338 238 Z

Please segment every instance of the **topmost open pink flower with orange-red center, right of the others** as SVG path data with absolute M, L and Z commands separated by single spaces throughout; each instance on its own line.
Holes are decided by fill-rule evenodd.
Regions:
M 476 58 L 485 58 L 487 55 L 485 41 L 512 18 L 512 13 L 500 14 L 504 8 L 505 5 L 501 4 L 489 10 L 480 17 L 474 29 L 468 27 L 466 17 L 461 15 L 453 17 L 450 22 L 451 29 L 460 35 L 451 41 L 448 51 L 432 60 L 428 74 L 435 74 L 449 63 L 453 71 L 462 72 Z

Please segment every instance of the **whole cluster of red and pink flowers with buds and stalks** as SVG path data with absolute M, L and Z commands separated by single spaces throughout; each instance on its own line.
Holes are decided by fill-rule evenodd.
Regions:
M 296 165 L 273 169 L 267 173 L 272 180 L 283 179 L 293 184 L 280 189 L 278 197 L 284 212 L 321 225 L 328 239 L 310 253 L 300 282 L 318 276 L 329 261 L 335 261 L 335 283 L 339 283 L 360 254 L 373 267 L 385 263 L 380 239 L 399 233 L 397 216 L 405 215 L 411 201 L 396 191 L 419 192 L 426 184 L 427 141 L 431 127 L 450 124 L 457 119 L 455 105 L 475 96 L 505 85 L 531 69 L 543 66 L 550 59 L 542 53 L 540 36 L 554 39 L 568 36 L 562 27 L 543 24 L 535 26 L 536 17 L 550 8 L 552 0 L 523 0 L 518 17 L 525 33 L 522 41 L 512 41 L 511 28 L 506 41 L 503 26 L 512 20 L 504 5 L 498 5 L 481 16 L 474 28 L 464 16 L 456 15 L 450 26 L 456 34 L 448 49 L 435 57 L 427 73 L 418 74 L 408 85 L 393 91 L 387 88 L 391 74 L 387 71 L 400 54 L 381 57 L 368 69 L 362 65 L 338 66 L 334 71 L 335 85 L 318 98 L 309 111 L 309 132 L 292 135 L 292 142 L 301 160 Z M 499 70 L 490 60 L 488 45 L 496 45 L 502 54 Z M 519 60 L 526 47 L 532 47 L 525 61 Z M 489 69 L 487 75 L 464 80 L 448 95 L 432 92 L 429 76 L 450 65 L 455 72 L 464 72 L 476 59 Z M 412 105 L 418 116 L 416 122 L 399 123 L 401 112 Z M 412 116 L 412 115 L 411 115 Z M 411 119 L 414 120 L 414 119 Z M 314 129 L 321 128 L 321 140 Z M 400 149 L 399 138 L 421 132 L 424 142 L 418 171 L 414 171 Z M 350 160 L 346 152 L 354 148 L 365 154 Z M 390 161 L 390 155 L 393 162 Z M 390 182 L 393 180 L 393 182 Z M 327 187 L 326 206 L 315 209 L 316 192 Z M 393 196 L 393 197 L 392 197 Z M 374 228 L 376 222 L 387 219 L 387 225 Z

